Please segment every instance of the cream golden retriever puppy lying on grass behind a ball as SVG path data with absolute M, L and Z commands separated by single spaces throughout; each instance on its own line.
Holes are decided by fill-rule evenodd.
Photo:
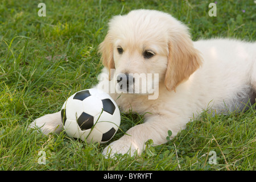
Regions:
M 96 88 L 108 92 L 123 112 L 146 113 L 144 123 L 110 143 L 104 155 L 141 154 L 148 139 L 166 143 L 168 130 L 174 138 L 205 109 L 229 113 L 255 102 L 255 42 L 192 42 L 188 27 L 171 15 L 134 10 L 110 20 L 99 51 L 105 68 Z M 31 127 L 36 126 L 44 134 L 58 133 L 60 112 L 36 119 Z

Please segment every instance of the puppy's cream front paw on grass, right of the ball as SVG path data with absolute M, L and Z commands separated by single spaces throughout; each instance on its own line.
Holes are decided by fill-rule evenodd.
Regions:
M 104 148 L 102 154 L 105 155 L 106 158 L 114 158 L 115 154 L 128 154 L 129 156 L 133 156 L 134 154 L 141 154 L 141 149 L 132 142 L 119 139 Z

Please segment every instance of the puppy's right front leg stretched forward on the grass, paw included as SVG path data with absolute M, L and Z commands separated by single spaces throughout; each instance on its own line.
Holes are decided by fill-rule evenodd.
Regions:
M 145 123 L 129 129 L 126 132 L 128 135 L 124 135 L 120 139 L 110 143 L 102 154 L 110 155 L 110 157 L 113 157 L 115 153 L 126 154 L 129 152 L 131 156 L 133 156 L 135 152 L 141 154 L 144 143 L 147 142 L 147 140 L 152 139 L 156 145 L 166 143 L 168 130 L 172 131 L 171 138 L 173 138 L 183 127 L 180 126 L 180 122 L 173 122 L 170 117 L 155 115 L 147 118 Z

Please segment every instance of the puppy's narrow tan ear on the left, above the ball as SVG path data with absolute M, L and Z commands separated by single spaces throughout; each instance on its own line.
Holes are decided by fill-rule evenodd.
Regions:
M 104 41 L 100 44 L 99 52 L 101 53 L 102 64 L 104 67 L 108 68 L 110 80 L 110 69 L 115 69 L 115 64 L 113 56 L 113 43 L 109 34 L 106 35 Z

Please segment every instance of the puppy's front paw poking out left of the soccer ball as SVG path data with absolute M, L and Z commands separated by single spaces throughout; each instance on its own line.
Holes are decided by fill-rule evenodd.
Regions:
M 53 114 L 46 114 L 30 123 L 30 129 L 40 129 L 43 134 L 60 133 L 63 123 L 61 122 L 60 111 Z

